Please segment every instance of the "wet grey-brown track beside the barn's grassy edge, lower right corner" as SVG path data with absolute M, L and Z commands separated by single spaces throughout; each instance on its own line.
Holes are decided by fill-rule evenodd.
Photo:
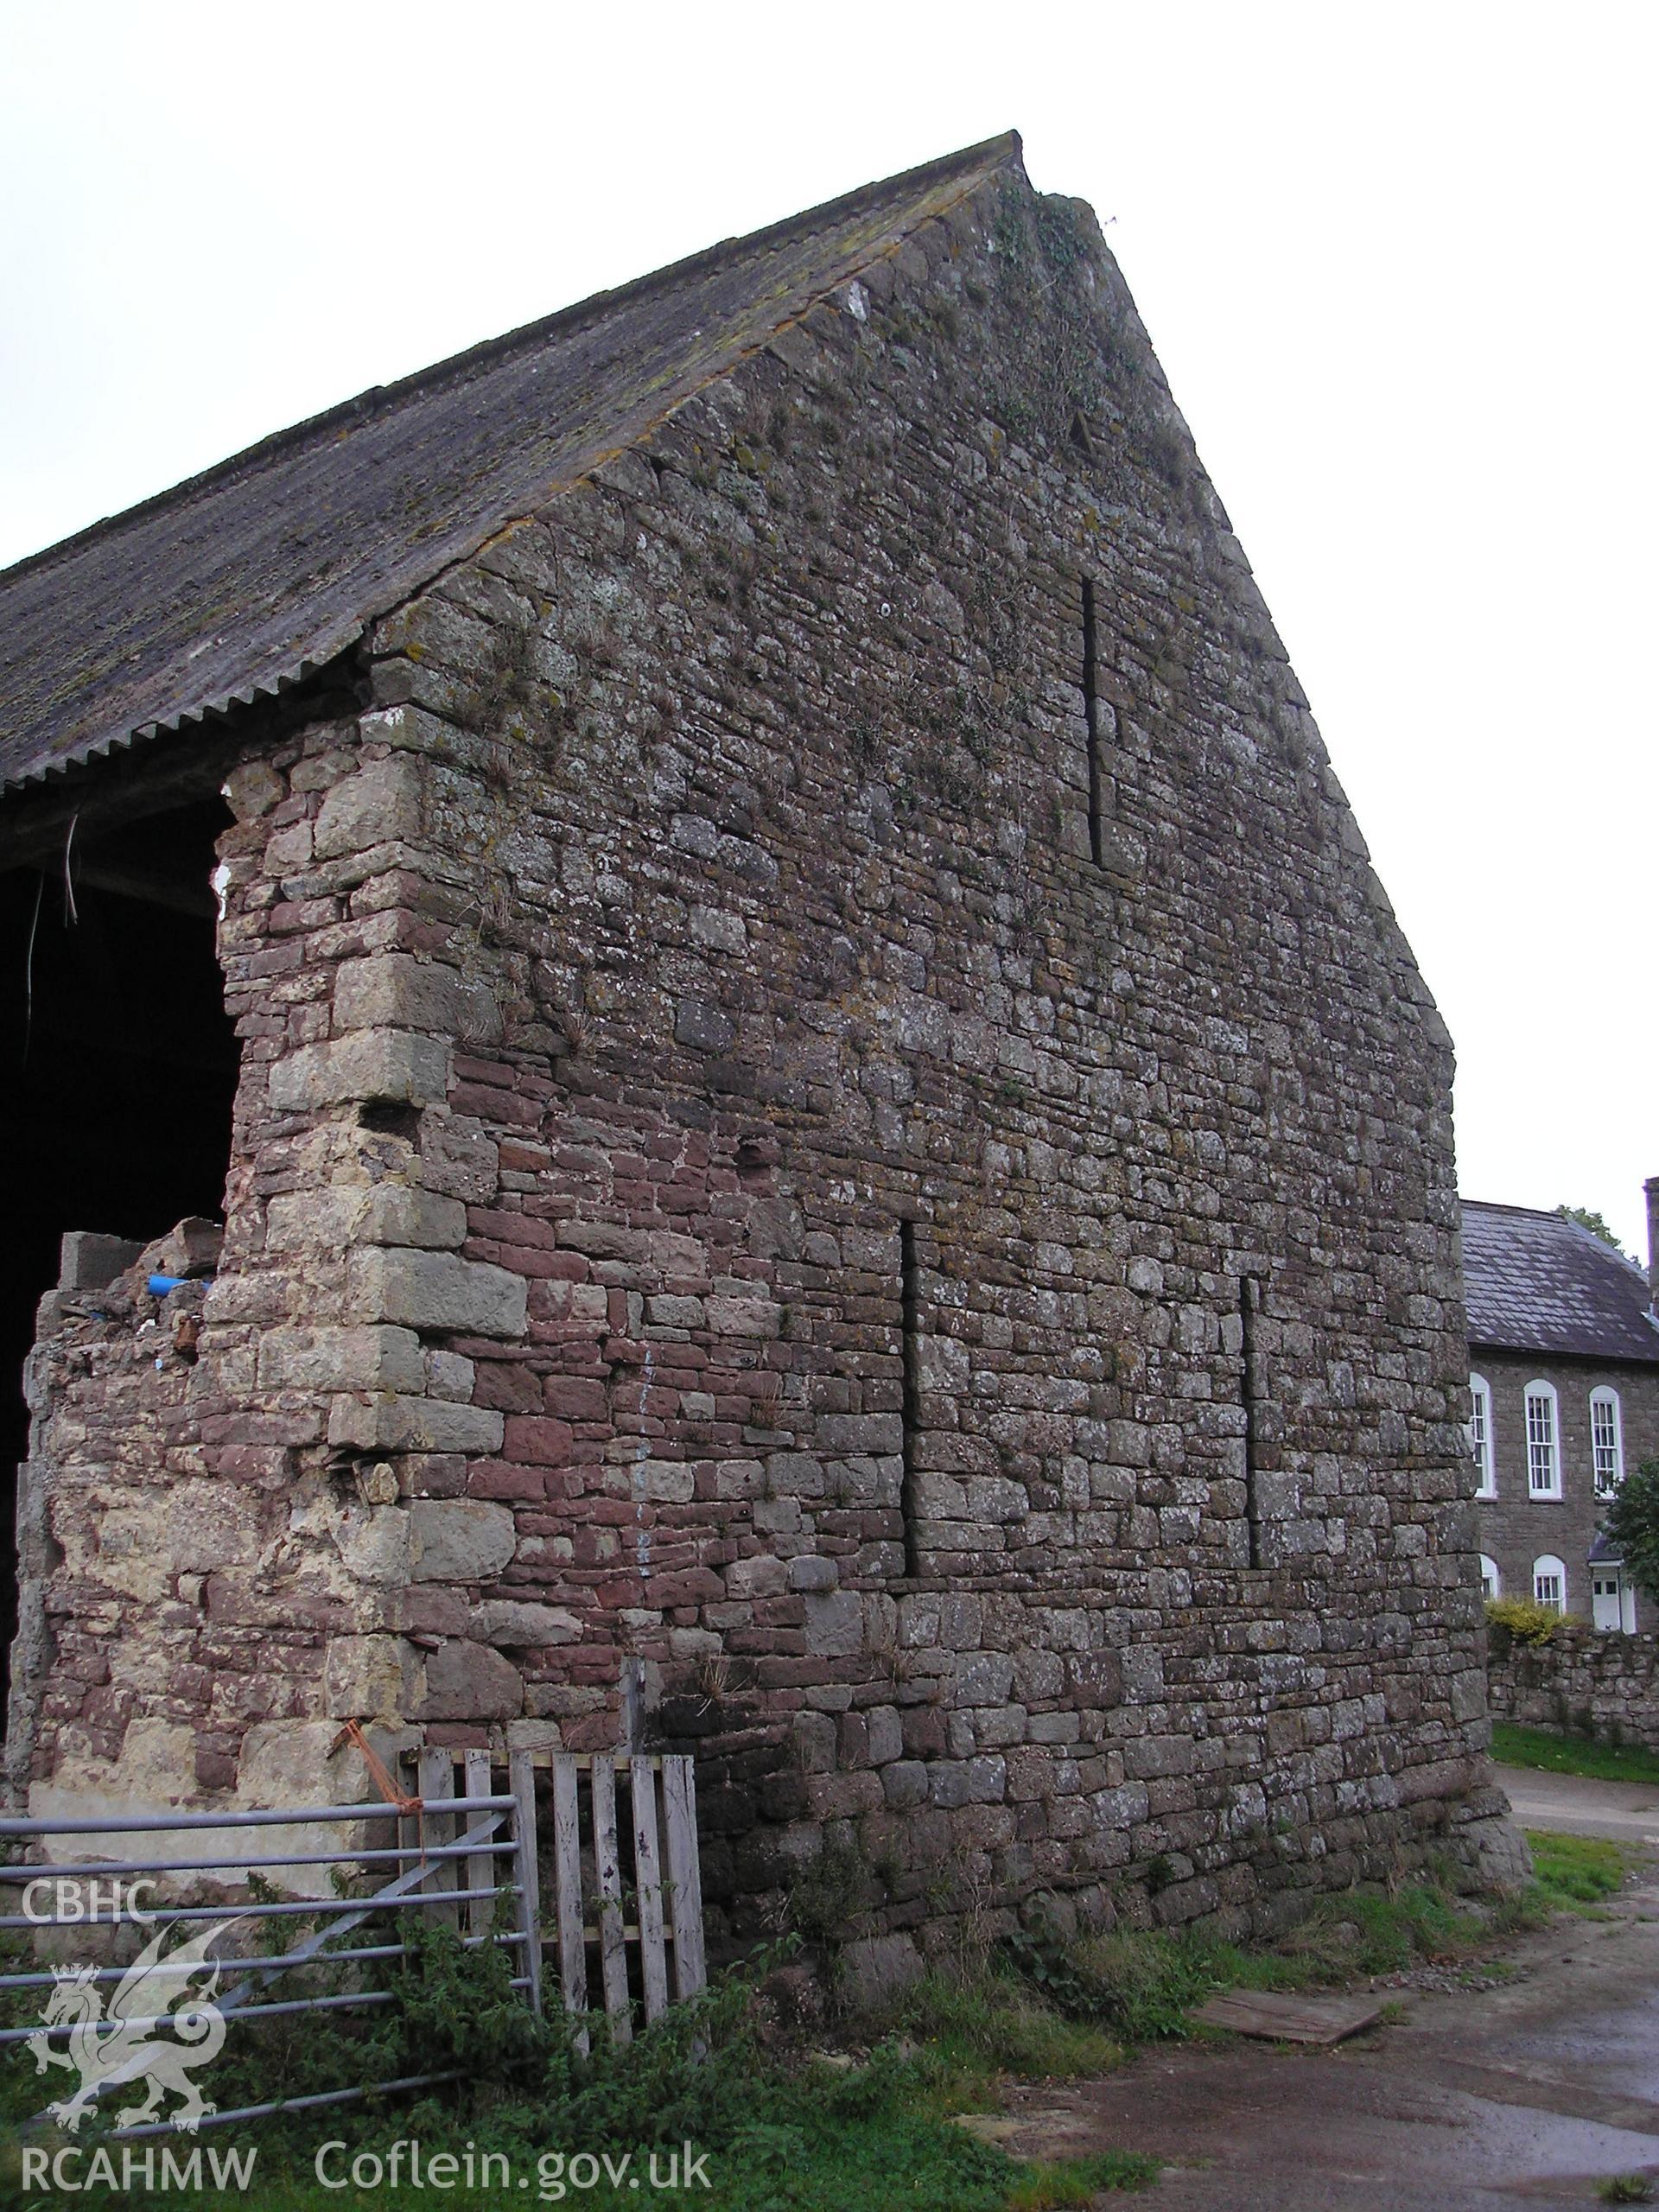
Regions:
M 1498 1989 L 1402 1991 L 1402 2026 L 1329 2053 L 1159 2048 L 1026 2084 L 1006 2148 L 1157 2152 L 1139 2201 L 1170 2212 L 1584 2208 L 1644 2170 L 1659 2188 L 1659 1874 L 1608 1911 L 1522 1940 Z

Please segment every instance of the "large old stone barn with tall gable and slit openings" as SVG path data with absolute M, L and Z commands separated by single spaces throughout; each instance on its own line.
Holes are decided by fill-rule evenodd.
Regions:
M 889 1951 L 1513 1863 L 1449 1040 L 1015 137 L 0 637 L 35 1812 L 692 1750 L 714 1924 L 827 1843 Z

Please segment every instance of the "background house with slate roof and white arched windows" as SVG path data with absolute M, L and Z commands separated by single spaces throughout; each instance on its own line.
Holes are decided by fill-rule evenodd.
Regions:
M 1659 1455 L 1659 1177 L 1646 1190 L 1646 1276 L 1559 1214 L 1462 1208 L 1482 1586 L 1626 1632 L 1659 1628 L 1599 1535 L 1626 1469 Z

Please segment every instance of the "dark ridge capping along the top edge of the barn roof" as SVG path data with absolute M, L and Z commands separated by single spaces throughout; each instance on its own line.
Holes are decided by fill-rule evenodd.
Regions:
M 816 208 L 803 208 L 799 215 L 761 226 L 761 230 L 717 239 L 712 246 L 701 246 L 697 252 L 686 254 L 679 261 L 670 261 L 659 270 L 648 270 L 644 276 L 633 276 L 628 283 L 613 285 L 606 292 L 591 292 L 586 299 L 571 301 L 566 307 L 555 307 L 551 314 L 538 316 L 533 323 L 518 323 L 513 330 L 504 330 L 493 338 L 480 338 L 460 354 L 447 354 L 442 361 L 434 361 L 425 369 L 411 369 L 407 376 L 398 376 L 389 385 L 367 385 L 349 400 L 336 400 L 332 407 L 323 407 L 314 416 L 303 416 L 299 422 L 288 422 L 283 429 L 268 431 L 263 438 L 228 453 L 223 460 L 215 460 L 195 476 L 179 478 L 177 484 L 168 484 L 166 489 L 150 493 L 146 500 L 137 500 L 133 507 L 122 507 L 113 515 L 100 515 L 95 522 L 84 524 L 84 529 L 73 531 L 69 538 L 58 538 L 53 544 L 40 546 L 35 553 L 24 553 L 24 557 L 11 562 L 9 568 L 0 568 L 0 584 L 9 584 L 13 577 L 46 568 L 55 560 L 77 553 L 102 533 L 115 531 L 139 515 L 150 515 L 173 504 L 188 504 L 192 495 L 212 489 L 234 471 L 274 460 L 334 422 L 345 425 L 372 409 L 380 411 L 385 405 L 396 405 L 416 392 L 431 392 L 438 385 L 465 380 L 467 374 L 473 374 L 491 361 L 504 358 L 515 347 L 540 343 L 555 334 L 568 336 L 588 323 L 604 321 L 604 316 L 613 314 L 617 307 L 635 305 L 641 299 L 650 299 L 657 292 L 666 292 L 677 283 L 686 283 L 688 279 L 717 268 L 721 257 L 730 254 L 732 248 L 765 248 L 790 237 L 810 237 L 814 226 L 841 221 L 860 206 L 874 208 L 887 197 L 902 197 L 907 190 L 936 184 L 956 173 L 971 175 L 975 168 L 982 168 L 989 175 L 991 170 L 1013 161 L 1024 161 L 1024 142 L 1018 131 L 1004 131 L 998 137 L 980 139 L 975 146 L 962 146 L 958 153 L 936 155 L 931 161 L 920 161 L 916 168 L 900 170 L 896 177 L 880 177 L 874 184 L 860 184 L 852 192 L 843 192 L 838 199 L 825 199 Z

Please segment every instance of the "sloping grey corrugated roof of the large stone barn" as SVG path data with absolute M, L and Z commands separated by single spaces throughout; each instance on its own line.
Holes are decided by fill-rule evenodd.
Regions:
M 299 681 L 1002 168 L 1006 133 L 376 385 L 0 573 L 0 783 Z

